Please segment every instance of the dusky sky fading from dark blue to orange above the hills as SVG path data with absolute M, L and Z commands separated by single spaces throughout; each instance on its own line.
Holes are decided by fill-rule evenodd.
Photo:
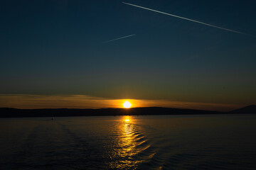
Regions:
M 228 111 L 255 104 L 255 6 L 2 1 L 0 107 L 117 108 L 129 99 L 138 107 Z

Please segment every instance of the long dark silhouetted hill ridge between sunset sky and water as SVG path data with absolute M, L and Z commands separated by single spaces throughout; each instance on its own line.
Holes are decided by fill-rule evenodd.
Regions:
M 205 114 L 234 114 L 256 113 L 256 106 L 247 106 L 230 112 L 202 111 L 185 108 L 43 108 L 43 109 L 17 109 L 0 108 L 0 118 L 22 117 L 65 117 L 65 116 L 99 116 L 99 115 L 205 115 Z

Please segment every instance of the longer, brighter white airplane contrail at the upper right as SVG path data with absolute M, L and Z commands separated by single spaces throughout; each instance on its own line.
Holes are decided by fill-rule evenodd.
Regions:
M 248 35 L 248 34 L 246 34 L 246 33 L 242 33 L 242 32 L 239 32 L 239 31 L 237 31 L 237 30 L 230 30 L 230 29 L 228 29 L 228 28 L 222 28 L 222 27 L 219 27 L 219 26 L 213 26 L 213 25 L 208 24 L 208 23 L 203 23 L 203 22 L 201 22 L 201 21 L 196 21 L 196 20 L 193 20 L 193 19 L 190 19 L 190 18 L 185 18 L 185 17 L 182 17 L 182 16 L 176 16 L 176 15 L 173 15 L 173 14 L 170 14 L 170 13 L 165 13 L 165 12 L 161 12 L 161 11 L 156 11 L 156 10 L 151 9 L 151 8 L 145 8 L 145 7 L 143 7 L 143 6 L 137 6 L 137 5 L 134 5 L 134 4 L 128 4 L 128 3 L 126 3 L 126 2 L 122 2 L 122 3 L 127 4 L 127 5 L 129 5 L 129 6 L 135 6 L 135 7 L 138 7 L 138 8 L 144 8 L 144 9 L 149 10 L 149 11 L 154 11 L 154 12 L 157 12 L 157 13 L 162 13 L 162 14 L 165 14 L 165 15 L 168 15 L 168 16 L 174 16 L 174 17 L 176 17 L 176 18 L 181 18 L 181 19 L 188 20 L 188 21 L 192 21 L 192 22 L 195 22 L 195 23 L 201 23 L 201 24 L 206 25 L 206 26 L 211 26 L 211 27 L 214 27 L 214 28 L 222 29 L 222 30 L 228 30 L 228 31 L 233 32 L 233 33 L 239 33 L 239 34 L 243 34 L 243 35 Z M 252 35 L 249 35 L 249 36 L 252 36 Z

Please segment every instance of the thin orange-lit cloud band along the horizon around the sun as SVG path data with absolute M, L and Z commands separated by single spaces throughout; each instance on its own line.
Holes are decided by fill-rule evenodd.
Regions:
M 86 95 L 1 94 L 1 108 L 122 108 L 126 98 L 98 98 Z M 128 99 L 132 107 L 192 108 L 211 111 L 230 111 L 238 105 L 196 103 L 186 101 Z

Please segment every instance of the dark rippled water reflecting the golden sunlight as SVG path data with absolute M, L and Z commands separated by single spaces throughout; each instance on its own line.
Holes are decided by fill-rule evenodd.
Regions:
M 256 169 L 256 115 L 0 119 L 0 169 Z

